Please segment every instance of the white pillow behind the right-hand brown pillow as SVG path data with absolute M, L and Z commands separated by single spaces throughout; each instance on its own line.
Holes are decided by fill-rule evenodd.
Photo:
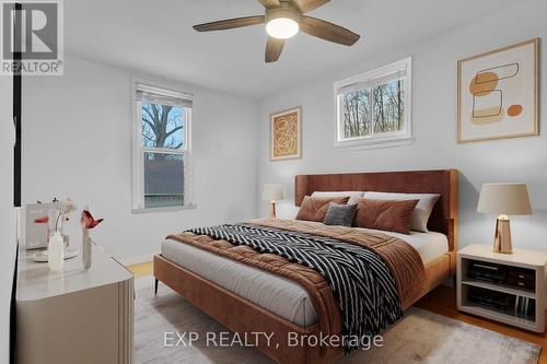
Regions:
M 419 200 L 410 216 L 410 230 L 428 233 L 429 216 L 441 195 L 364 192 L 363 197 L 372 200 Z

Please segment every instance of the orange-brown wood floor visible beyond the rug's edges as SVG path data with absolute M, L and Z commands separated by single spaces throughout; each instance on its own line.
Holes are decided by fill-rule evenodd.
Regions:
M 146 262 L 141 265 L 129 266 L 128 269 L 137 277 L 144 277 L 152 274 L 152 262 Z M 446 317 L 451 317 L 470 325 L 475 325 L 488 330 L 497 331 L 500 333 L 504 333 L 521 340 L 526 340 L 529 342 L 534 342 L 538 345 L 542 345 L 544 350 L 542 350 L 542 355 L 539 356 L 539 364 L 547 364 L 547 334 L 537 334 L 528 331 L 522 331 L 515 329 L 510 326 L 505 326 L 503 324 L 497 324 L 494 321 L 479 318 L 476 316 L 463 314 L 456 308 L 456 290 L 439 286 L 438 289 L 430 292 L 423 298 L 421 298 L 418 303 L 416 303 L 417 307 L 430 310 L 432 313 L 443 315 Z

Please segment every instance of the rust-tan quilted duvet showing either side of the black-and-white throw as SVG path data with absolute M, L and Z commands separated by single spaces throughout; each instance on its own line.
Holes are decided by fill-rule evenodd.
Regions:
M 363 233 L 351 227 L 327 226 L 296 220 L 254 220 L 268 227 L 311 233 L 361 245 L 374 250 L 388 266 L 396 281 L 403 308 L 407 308 L 422 292 L 424 268 L 419 254 L 404 240 L 381 233 Z M 247 246 L 234 246 L 226 240 L 213 240 L 209 236 L 173 234 L 167 238 L 211 251 L 219 256 L 263 269 L 290 279 L 302 285 L 313 300 L 321 330 L 325 333 L 341 332 L 338 305 L 325 279 L 314 270 L 271 254 L 260 254 Z

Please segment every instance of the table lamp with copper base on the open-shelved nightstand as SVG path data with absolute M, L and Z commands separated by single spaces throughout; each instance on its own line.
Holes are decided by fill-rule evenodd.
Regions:
M 493 251 L 512 254 L 513 247 L 508 215 L 532 214 L 526 184 L 484 184 L 480 189 L 477 212 L 498 215 L 493 236 Z

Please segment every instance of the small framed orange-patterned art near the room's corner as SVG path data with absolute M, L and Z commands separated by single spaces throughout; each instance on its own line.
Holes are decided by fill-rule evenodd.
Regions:
M 302 107 L 270 116 L 270 160 L 302 157 Z

